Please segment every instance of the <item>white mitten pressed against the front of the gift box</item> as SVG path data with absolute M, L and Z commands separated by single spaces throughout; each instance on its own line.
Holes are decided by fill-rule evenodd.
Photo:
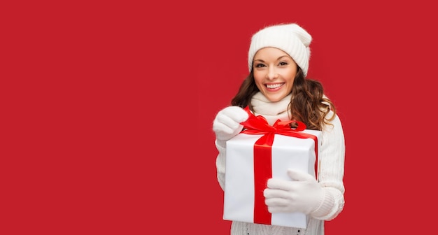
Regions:
M 270 213 L 301 212 L 309 215 L 323 203 L 323 187 L 309 173 L 288 170 L 292 179 L 271 178 L 264 190 L 264 203 Z

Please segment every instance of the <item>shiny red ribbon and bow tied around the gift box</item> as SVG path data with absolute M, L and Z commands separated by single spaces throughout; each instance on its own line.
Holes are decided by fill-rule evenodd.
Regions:
M 275 134 L 297 138 L 312 138 L 315 141 L 316 163 L 318 162 L 318 138 L 311 134 L 299 132 L 306 129 L 306 124 L 303 122 L 276 120 L 274 125 L 271 126 L 261 115 L 255 116 L 251 113 L 248 106 L 244 110 L 248 113 L 249 118 L 245 122 L 241 122 L 244 127 L 241 133 L 263 134 L 254 144 L 254 222 L 271 225 L 271 213 L 264 204 L 263 190 L 267 187 L 267 180 L 272 178 L 271 148 Z M 290 123 L 296 123 L 297 127 L 292 129 Z M 318 164 L 315 164 L 315 174 L 318 172 L 317 168 Z M 257 173 L 255 173 L 255 169 L 257 169 Z M 318 178 L 317 175 L 316 178 Z

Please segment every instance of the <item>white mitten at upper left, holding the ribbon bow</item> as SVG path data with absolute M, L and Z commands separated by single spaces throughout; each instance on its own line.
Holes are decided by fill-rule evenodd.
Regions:
M 213 131 L 218 141 L 228 141 L 243 129 L 240 122 L 248 119 L 248 113 L 239 106 L 222 109 L 213 120 Z

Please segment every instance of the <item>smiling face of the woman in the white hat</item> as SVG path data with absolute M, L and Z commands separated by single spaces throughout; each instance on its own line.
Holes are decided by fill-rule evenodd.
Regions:
M 255 85 L 269 101 L 280 101 L 292 92 L 297 64 L 278 48 L 262 48 L 254 55 Z

